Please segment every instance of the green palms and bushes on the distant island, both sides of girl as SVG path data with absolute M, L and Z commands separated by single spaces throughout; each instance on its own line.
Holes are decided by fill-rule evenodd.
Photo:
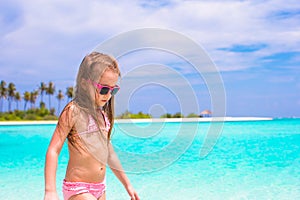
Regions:
M 51 106 L 51 96 L 55 95 L 58 101 L 57 110 L 60 111 L 61 101 L 68 98 L 68 102 L 73 98 L 74 88 L 72 86 L 67 87 L 65 93 L 61 89 L 56 92 L 56 88 L 53 82 L 48 84 L 41 82 L 40 85 L 33 91 L 25 91 L 23 94 L 17 91 L 16 85 L 10 82 L 8 85 L 4 80 L 0 82 L 0 121 L 47 121 L 57 120 L 58 117 L 55 114 L 56 109 Z M 45 95 L 48 96 L 48 105 L 44 101 Z M 40 97 L 39 106 L 36 106 L 36 101 Z M 3 111 L 4 101 L 8 102 L 7 111 Z M 23 110 L 19 108 L 19 103 L 24 102 Z M 12 109 L 12 105 L 15 104 L 15 109 Z M 29 104 L 29 108 L 27 107 Z M 182 113 L 177 112 L 174 114 L 166 113 L 159 118 L 201 118 L 210 117 L 211 112 L 204 110 L 200 114 L 190 113 L 184 116 Z M 138 112 L 132 113 L 126 110 L 121 115 L 117 115 L 116 119 L 150 119 L 153 118 L 150 114 Z

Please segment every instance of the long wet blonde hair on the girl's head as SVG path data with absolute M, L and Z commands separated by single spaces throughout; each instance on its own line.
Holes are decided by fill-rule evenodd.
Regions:
M 76 78 L 76 85 L 74 90 L 73 102 L 78 105 L 79 108 L 90 114 L 100 129 L 100 123 L 97 117 L 97 111 L 95 101 L 90 92 L 87 92 L 87 87 L 95 89 L 92 84 L 87 84 L 89 81 L 98 82 L 105 70 L 111 70 L 121 76 L 120 69 L 117 61 L 106 54 L 99 52 L 92 52 L 84 57 L 82 60 L 79 71 Z M 103 111 L 107 114 L 108 120 L 111 124 L 108 131 L 108 140 L 111 137 L 112 128 L 114 125 L 114 96 L 103 106 Z

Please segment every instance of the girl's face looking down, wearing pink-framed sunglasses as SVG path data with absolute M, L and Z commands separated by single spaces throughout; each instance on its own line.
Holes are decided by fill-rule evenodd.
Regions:
M 108 86 L 112 88 L 116 86 L 118 78 L 119 76 L 116 72 L 106 69 L 100 77 L 98 83 L 102 86 Z M 104 95 L 101 95 L 99 92 L 100 89 L 96 87 L 95 103 L 97 107 L 104 106 L 111 98 L 111 91 Z

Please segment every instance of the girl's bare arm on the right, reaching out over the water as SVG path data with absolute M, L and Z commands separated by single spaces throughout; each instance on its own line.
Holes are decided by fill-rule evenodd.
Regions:
M 131 197 L 132 200 L 139 200 L 140 198 L 138 197 L 136 191 L 132 187 L 128 177 L 126 176 L 121 162 L 116 154 L 116 152 L 113 149 L 113 146 L 111 143 L 109 143 L 109 158 L 108 158 L 108 165 L 112 172 L 115 174 L 115 176 L 120 180 L 120 182 L 123 184 L 125 187 L 127 193 Z

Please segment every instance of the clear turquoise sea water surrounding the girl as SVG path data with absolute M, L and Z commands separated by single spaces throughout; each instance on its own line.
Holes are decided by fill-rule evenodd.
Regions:
M 141 199 L 300 199 L 299 119 L 226 122 L 212 151 L 200 157 L 210 126 L 116 124 L 113 144 Z M 0 199 L 42 199 L 54 128 L 0 126 Z M 60 195 L 66 150 L 57 172 Z M 108 200 L 129 199 L 111 171 L 107 184 Z

